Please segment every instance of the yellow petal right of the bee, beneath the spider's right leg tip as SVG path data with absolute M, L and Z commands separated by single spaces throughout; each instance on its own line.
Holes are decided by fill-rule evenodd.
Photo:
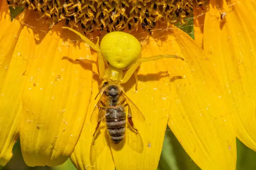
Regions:
M 226 96 L 197 43 L 174 29 L 185 62 L 170 65 L 172 104 L 168 125 L 183 148 L 203 170 L 235 170 L 236 138 Z M 172 39 L 171 39 L 172 40 Z

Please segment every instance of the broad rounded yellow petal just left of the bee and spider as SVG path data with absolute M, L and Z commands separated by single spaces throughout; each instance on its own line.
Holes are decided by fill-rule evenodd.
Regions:
M 23 96 L 20 143 L 29 166 L 56 166 L 67 160 L 82 130 L 91 95 L 91 66 L 61 60 L 86 57 L 90 49 L 84 42 L 73 42 L 77 37 L 70 39 L 61 25 L 44 37 L 26 72 L 29 80 Z

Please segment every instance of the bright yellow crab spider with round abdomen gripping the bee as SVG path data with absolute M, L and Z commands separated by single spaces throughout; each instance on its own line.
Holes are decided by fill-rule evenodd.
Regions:
M 127 82 L 134 74 L 136 78 L 136 89 L 138 85 L 138 76 L 136 70 L 142 62 L 169 57 L 184 60 L 182 57 L 177 55 L 157 55 L 147 58 L 140 58 L 140 42 L 136 39 L 136 37 L 125 32 L 116 31 L 106 34 L 102 38 L 99 46 L 99 39 L 97 43 L 94 44 L 91 40 L 76 30 L 68 27 L 62 28 L 67 28 L 76 33 L 82 38 L 82 40 L 84 40 L 84 42 L 97 51 L 97 62 L 100 78 L 110 82 L 119 82 L 122 84 Z M 76 59 L 76 61 L 92 63 L 92 61 L 87 59 Z M 107 65 L 106 69 L 105 64 Z M 124 71 L 126 71 L 125 74 L 123 74 Z

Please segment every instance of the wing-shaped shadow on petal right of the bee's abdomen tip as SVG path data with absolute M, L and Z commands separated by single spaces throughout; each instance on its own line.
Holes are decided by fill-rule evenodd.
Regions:
M 130 146 L 132 150 L 138 153 L 143 153 L 143 140 L 141 138 L 141 135 L 138 131 L 136 132 L 135 130 L 133 130 L 129 123 L 127 125 L 125 138 L 128 146 Z

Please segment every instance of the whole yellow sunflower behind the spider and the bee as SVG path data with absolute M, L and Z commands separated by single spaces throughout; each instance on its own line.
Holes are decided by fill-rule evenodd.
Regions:
M 8 4 L 0 2 L 1 165 L 10 160 L 20 138 L 29 166 L 56 166 L 71 158 L 81 170 L 155 170 L 166 125 L 202 170 L 234 170 L 236 138 L 256 150 L 256 4 L 252 0 L 184 0 L 174 5 L 156 1 L 145 6 L 139 3 L 150 1 L 122 1 L 116 10 L 112 3 L 101 1 L 97 10 L 94 1 L 84 6 L 84 1 L 71 0 L 8 2 L 26 8 L 10 22 Z M 129 3 L 133 13 L 125 16 Z M 184 22 L 191 12 L 195 40 L 172 25 L 175 20 Z M 90 115 L 101 80 L 97 65 L 72 61 L 96 62 L 97 53 L 78 35 L 61 28 L 65 25 L 86 31 L 93 41 L 120 29 L 141 42 L 142 57 L 172 54 L 185 59 L 143 63 L 138 89 L 134 77 L 123 85 L 146 119 L 134 120 L 143 140 L 142 153 L 128 145 L 117 146 L 102 135 L 92 165 L 95 126 Z

